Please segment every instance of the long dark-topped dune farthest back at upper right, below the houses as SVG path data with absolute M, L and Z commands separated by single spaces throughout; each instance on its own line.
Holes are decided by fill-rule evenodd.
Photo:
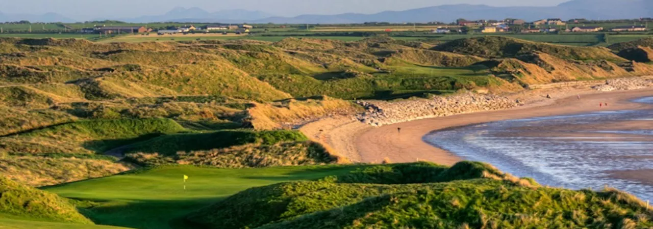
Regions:
M 626 61 L 604 47 L 560 46 L 503 36 L 481 36 L 453 40 L 440 44 L 433 49 L 485 58 L 517 57 L 518 55 L 537 51 L 561 59 L 577 61 Z

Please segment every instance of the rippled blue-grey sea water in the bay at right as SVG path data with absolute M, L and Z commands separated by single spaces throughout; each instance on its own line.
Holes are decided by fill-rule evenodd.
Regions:
M 634 101 L 653 103 L 653 97 Z M 653 129 L 621 125 L 633 121 L 653 122 L 653 111 L 505 120 L 436 131 L 424 141 L 543 185 L 594 190 L 609 185 L 653 200 L 653 184 L 642 177 L 653 177 Z M 633 170 L 640 172 L 615 175 Z

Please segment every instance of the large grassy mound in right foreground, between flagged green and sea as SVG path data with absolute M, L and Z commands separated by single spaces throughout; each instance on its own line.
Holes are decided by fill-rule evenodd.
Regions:
M 204 228 L 649 228 L 618 191 L 541 187 L 484 163 L 380 165 L 248 189 L 187 217 Z

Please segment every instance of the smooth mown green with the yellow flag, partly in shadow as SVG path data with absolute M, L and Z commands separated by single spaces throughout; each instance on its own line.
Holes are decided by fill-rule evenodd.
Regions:
M 127 228 L 185 228 L 181 217 L 239 191 L 278 182 L 345 174 L 358 167 L 159 167 L 44 189 L 67 198 L 100 202 L 88 214 L 96 224 Z M 183 190 L 184 174 L 189 176 L 186 190 Z M 67 224 L 61 225 L 58 228 L 69 228 Z

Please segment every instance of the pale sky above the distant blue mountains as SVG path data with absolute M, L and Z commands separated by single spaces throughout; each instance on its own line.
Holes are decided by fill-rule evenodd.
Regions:
M 0 12 L 56 12 L 76 20 L 135 18 L 159 15 L 175 7 L 199 7 L 209 12 L 229 9 L 261 10 L 276 16 L 300 14 L 375 13 L 459 3 L 492 6 L 553 6 L 567 0 L 0 0 Z

